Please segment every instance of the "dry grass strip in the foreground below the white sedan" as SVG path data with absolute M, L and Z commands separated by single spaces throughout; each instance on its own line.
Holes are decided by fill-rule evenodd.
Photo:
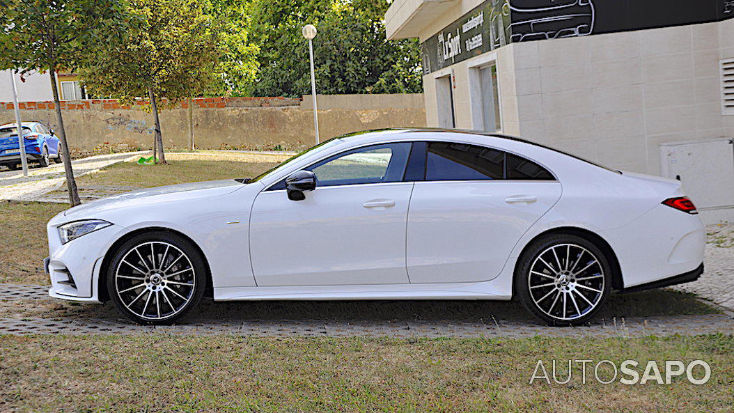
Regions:
M 590 359 L 586 384 L 529 384 L 537 360 Z M 694 385 L 597 384 L 603 359 L 702 359 Z M 559 364 L 560 365 L 560 364 Z M 549 372 L 549 374 L 551 374 Z M 700 371 L 697 373 L 702 375 Z M 599 376 L 613 376 L 602 365 Z M 698 376 L 700 377 L 700 376 Z M 269 339 L 233 335 L 0 337 L 0 411 L 732 412 L 734 337 Z

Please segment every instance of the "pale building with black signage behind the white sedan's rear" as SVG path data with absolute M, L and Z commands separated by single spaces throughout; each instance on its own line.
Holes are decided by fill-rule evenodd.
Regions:
M 734 219 L 733 17 L 734 0 L 395 0 L 385 21 L 421 41 L 429 126 L 680 177 Z

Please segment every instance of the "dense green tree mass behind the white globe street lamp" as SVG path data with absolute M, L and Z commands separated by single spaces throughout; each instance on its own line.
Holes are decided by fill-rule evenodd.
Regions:
M 297 97 L 310 92 L 308 43 L 316 25 L 316 87 L 321 93 L 421 92 L 418 40 L 387 40 L 386 0 L 252 0 L 252 42 L 260 47 L 252 94 Z

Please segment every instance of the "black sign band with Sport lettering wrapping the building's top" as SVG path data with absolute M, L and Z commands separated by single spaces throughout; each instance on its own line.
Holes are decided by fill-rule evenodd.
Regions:
M 507 43 L 722 21 L 734 0 L 487 0 L 421 44 L 423 72 Z

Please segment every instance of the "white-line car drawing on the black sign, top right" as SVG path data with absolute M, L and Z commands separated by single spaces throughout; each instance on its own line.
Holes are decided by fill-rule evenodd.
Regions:
M 585 36 L 594 29 L 592 0 L 509 0 L 509 7 L 513 42 Z

